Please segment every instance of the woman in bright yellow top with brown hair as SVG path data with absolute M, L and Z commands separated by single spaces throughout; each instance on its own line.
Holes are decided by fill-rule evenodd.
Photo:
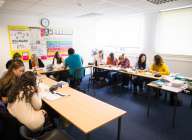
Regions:
M 160 55 L 154 56 L 154 63 L 150 67 L 150 72 L 158 73 L 160 75 L 169 75 L 169 67 L 163 62 Z

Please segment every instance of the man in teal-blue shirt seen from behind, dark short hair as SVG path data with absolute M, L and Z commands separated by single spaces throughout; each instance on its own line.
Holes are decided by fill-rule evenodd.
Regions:
M 83 60 L 80 55 L 75 54 L 73 48 L 68 49 L 68 55 L 65 59 L 65 68 L 69 67 L 69 75 L 79 80 L 84 75 Z

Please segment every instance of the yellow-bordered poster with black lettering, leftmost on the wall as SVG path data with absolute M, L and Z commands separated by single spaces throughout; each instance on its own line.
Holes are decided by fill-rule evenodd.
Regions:
M 15 52 L 22 55 L 23 60 L 29 59 L 30 33 L 26 26 L 8 26 L 10 54 Z

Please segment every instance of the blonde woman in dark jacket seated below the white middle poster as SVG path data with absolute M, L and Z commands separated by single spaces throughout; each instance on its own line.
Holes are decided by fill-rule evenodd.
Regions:
M 36 54 L 32 54 L 31 59 L 29 60 L 29 69 L 32 68 L 43 68 L 44 64 L 41 61 L 41 59 L 39 59 Z

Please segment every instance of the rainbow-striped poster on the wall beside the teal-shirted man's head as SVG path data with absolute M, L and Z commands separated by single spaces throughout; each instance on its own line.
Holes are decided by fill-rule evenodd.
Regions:
M 72 34 L 49 35 L 47 39 L 47 56 L 53 57 L 56 51 L 61 56 L 67 56 L 67 51 L 71 47 Z

